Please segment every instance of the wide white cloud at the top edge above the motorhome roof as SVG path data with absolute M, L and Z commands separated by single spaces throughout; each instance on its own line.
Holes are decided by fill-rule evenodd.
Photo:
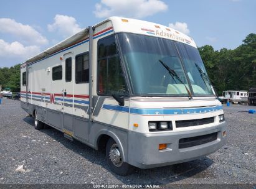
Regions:
M 168 9 L 160 0 L 101 0 L 95 4 L 96 17 L 125 16 L 143 18 Z

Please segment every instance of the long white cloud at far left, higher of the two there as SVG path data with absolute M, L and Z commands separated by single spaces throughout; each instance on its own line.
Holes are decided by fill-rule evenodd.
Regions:
M 24 25 L 13 19 L 0 18 L 0 32 L 13 35 L 24 44 L 44 45 L 48 43 L 48 40 L 31 25 Z

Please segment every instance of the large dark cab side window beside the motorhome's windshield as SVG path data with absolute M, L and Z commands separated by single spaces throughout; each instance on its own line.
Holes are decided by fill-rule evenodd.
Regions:
M 113 35 L 98 41 L 97 92 L 108 96 L 128 94 Z

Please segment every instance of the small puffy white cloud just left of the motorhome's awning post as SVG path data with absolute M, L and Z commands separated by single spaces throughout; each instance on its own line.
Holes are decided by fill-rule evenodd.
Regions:
M 60 14 L 56 14 L 54 23 L 48 24 L 47 27 L 50 32 L 57 31 L 63 37 L 69 37 L 82 30 L 74 17 Z

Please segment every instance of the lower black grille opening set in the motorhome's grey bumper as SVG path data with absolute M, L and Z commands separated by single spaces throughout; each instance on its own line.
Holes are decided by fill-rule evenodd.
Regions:
M 214 132 L 214 133 L 206 134 L 202 136 L 179 139 L 179 149 L 184 149 L 187 147 L 192 147 L 195 145 L 201 145 L 201 144 L 206 144 L 207 142 L 216 141 L 217 137 L 218 137 L 218 133 Z

